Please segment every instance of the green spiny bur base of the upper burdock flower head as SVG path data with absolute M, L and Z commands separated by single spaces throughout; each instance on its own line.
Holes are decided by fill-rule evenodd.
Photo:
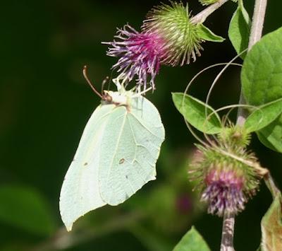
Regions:
M 188 6 L 172 2 L 152 8 L 143 22 L 143 33 L 157 33 L 165 42 L 168 52 L 161 62 L 171 66 L 189 64 L 190 58 L 196 60 L 200 56 L 200 43 L 197 24 L 190 22 Z

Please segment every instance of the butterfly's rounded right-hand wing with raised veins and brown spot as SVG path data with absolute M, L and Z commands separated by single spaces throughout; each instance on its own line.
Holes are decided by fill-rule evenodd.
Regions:
M 163 141 L 164 126 L 149 100 L 134 98 L 130 112 L 116 107 L 109 115 L 100 152 L 99 191 L 104 202 L 120 204 L 156 179 Z

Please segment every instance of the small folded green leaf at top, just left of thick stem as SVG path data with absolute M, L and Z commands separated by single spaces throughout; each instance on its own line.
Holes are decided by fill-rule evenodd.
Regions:
M 242 2 L 242 1 L 241 1 Z M 233 47 L 237 54 L 247 49 L 250 36 L 250 18 L 245 10 L 243 3 L 239 4 L 238 8 L 234 12 L 228 29 L 228 37 L 231 40 Z M 243 59 L 247 52 L 240 57 Z

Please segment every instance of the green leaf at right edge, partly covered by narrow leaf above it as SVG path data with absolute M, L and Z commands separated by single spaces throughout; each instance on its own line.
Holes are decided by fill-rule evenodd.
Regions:
M 282 153 L 282 115 L 258 132 L 264 146 Z

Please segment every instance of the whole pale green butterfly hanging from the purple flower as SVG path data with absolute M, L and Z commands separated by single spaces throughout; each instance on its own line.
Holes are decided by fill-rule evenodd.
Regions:
M 86 68 L 83 73 L 90 83 Z M 101 95 L 102 104 L 87 122 L 63 180 L 59 206 L 67 230 L 80 216 L 106 204 L 121 204 L 156 179 L 164 141 L 159 112 L 142 95 L 125 91 L 118 79 L 116 86 L 118 91 Z

